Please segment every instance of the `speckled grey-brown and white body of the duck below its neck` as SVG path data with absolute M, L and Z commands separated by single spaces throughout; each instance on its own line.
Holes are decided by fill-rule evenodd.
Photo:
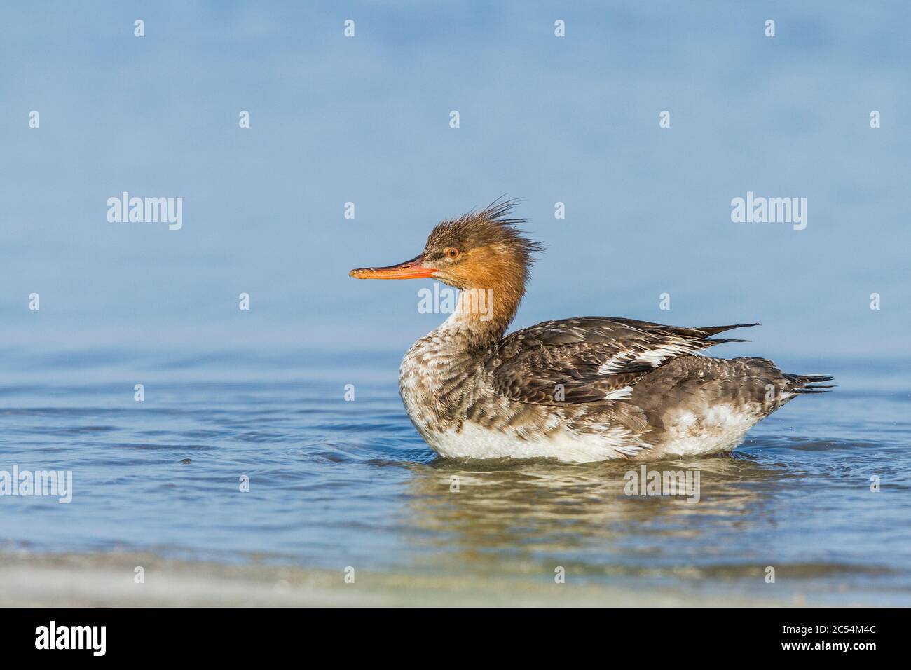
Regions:
M 408 415 L 443 456 L 580 462 L 717 453 L 823 380 L 785 375 L 763 358 L 695 356 L 718 344 L 700 329 L 582 317 L 483 350 L 469 344 L 470 330 L 454 314 L 412 346 L 400 369 Z M 599 372 L 610 361 L 623 366 Z M 605 399 L 619 389 L 629 391 Z

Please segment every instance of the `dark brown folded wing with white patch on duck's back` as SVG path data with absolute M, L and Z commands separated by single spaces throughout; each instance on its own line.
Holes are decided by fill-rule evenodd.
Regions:
M 504 338 L 487 367 L 496 392 L 519 402 L 560 406 L 622 400 L 671 358 L 722 342 L 744 342 L 707 339 L 736 327 L 677 328 L 598 316 L 546 321 Z

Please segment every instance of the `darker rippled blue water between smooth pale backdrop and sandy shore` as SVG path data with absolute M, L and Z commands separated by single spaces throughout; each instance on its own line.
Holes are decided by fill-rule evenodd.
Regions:
M 797 398 L 736 458 L 651 464 L 700 470 L 688 503 L 624 495 L 624 463 L 435 459 L 398 357 L 7 349 L 0 469 L 71 469 L 74 492 L 0 498 L 0 548 L 911 603 L 906 365 L 836 361 L 834 393 Z

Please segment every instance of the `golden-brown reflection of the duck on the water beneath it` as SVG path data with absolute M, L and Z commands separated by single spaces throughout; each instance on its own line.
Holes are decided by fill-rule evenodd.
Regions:
M 648 464 L 649 471 L 698 470 L 699 501 L 688 502 L 685 496 L 626 495 L 624 476 L 640 471 L 640 463 L 626 461 L 555 466 L 438 459 L 411 469 L 413 522 L 428 531 L 423 541 L 451 552 L 455 562 L 536 571 L 542 563 L 571 563 L 577 573 L 602 575 L 654 573 L 662 564 L 680 565 L 681 558 L 691 563 L 696 547 L 702 556 L 718 553 L 723 531 L 763 522 L 773 490 L 794 476 L 744 457 Z

